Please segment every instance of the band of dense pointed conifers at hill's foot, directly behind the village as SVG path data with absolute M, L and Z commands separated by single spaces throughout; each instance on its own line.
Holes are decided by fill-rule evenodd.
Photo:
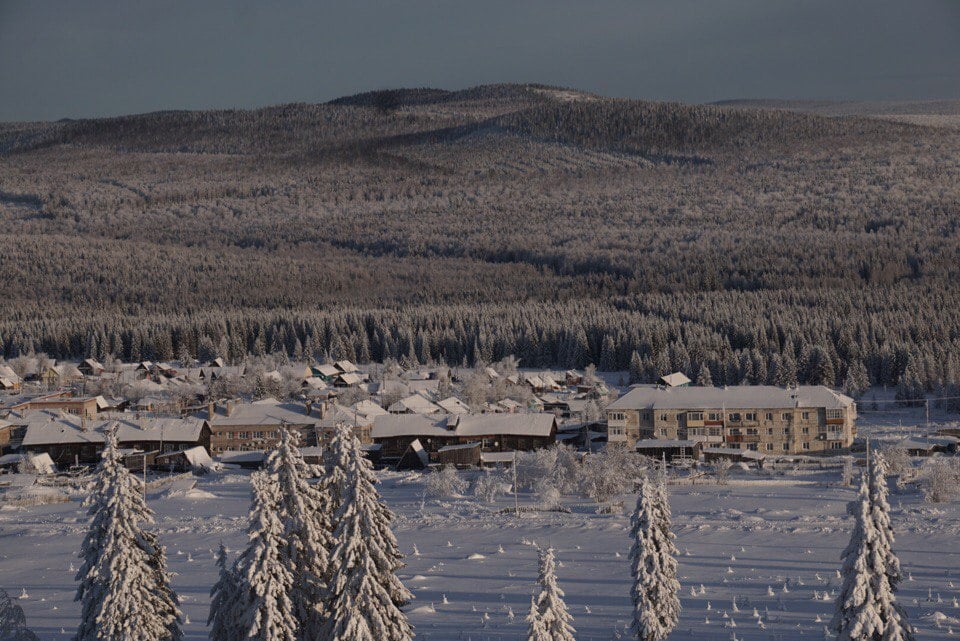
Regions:
M 0 324 L 0 345 L 8 359 L 46 352 L 238 361 L 280 353 L 472 366 L 515 355 L 525 367 L 593 363 L 629 372 L 635 382 L 682 371 L 707 384 L 800 382 L 852 386 L 853 393 L 870 384 L 912 385 L 922 395 L 960 383 L 960 293 L 902 286 L 146 319 L 76 315 Z

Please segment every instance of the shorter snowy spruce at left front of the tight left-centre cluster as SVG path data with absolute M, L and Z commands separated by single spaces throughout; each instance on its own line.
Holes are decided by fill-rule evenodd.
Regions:
M 280 484 L 268 472 L 254 473 L 252 482 L 248 543 L 237 565 L 240 633 L 256 641 L 295 641 L 297 620 L 290 601 L 293 575 L 287 569 Z

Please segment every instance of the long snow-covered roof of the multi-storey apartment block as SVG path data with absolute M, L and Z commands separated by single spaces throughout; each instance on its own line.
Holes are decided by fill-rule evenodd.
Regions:
M 823 385 L 774 387 L 658 387 L 638 385 L 607 406 L 607 410 L 638 409 L 792 409 L 797 407 L 845 409 L 853 399 Z

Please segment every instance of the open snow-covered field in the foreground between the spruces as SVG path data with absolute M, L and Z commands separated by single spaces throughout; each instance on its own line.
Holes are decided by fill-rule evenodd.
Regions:
M 398 513 L 395 530 L 409 555 L 402 577 L 416 595 L 406 610 L 419 639 L 521 638 L 536 574 L 533 543 L 557 549 L 558 576 L 579 639 L 617 638 L 617 630 L 622 634 L 628 625 L 625 516 L 597 515 L 589 501 L 568 498 L 568 514 L 534 511 L 518 518 L 504 511 L 513 505 L 509 497 L 494 505 L 473 498 L 424 502 L 414 477 L 382 478 L 381 491 Z M 823 638 L 833 610 L 823 595 L 838 586 L 838 557 L 850 526 L 844 509 L 853 496 L 838 481 L 839 472 L 832 471 L 671 486 L 684 552 L 684 611 L 672 638 Z M 158 488 L 149 503 L 157 511 L 169 566 L 178 574 L 174 586 L 190 619 L 186 637 L 205 639 L 213 550 L 221 539 L 231 551 L 243 544 L 249 477 L 231 472 L 192 485 L 187 479 Z M 633 498 L 625 497 L 628 505 Z M 529 496 L 520 503 L 535 505 Z M 960 598 L 960 504 L 931 507 L 919 495 L 895 489 L 891 504 L 896 549 L 912 576 L 901 600 L 918 637 L 960 637 L 954 602 Z M 75 500 L 0 509 L 0 587 L 14 598 L 25 591 L 18 603 L 42 639 L 67 639 L 76 626 L 74 555 L 84 528 Z

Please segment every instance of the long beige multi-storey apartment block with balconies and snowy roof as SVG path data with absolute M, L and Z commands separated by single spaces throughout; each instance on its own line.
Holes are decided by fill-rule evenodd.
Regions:
M 610 443 L 689 439 L 768 454 L 843 450 L 857 434 L 853 399 L 821 385 L 638 385 L 607 406 Z

